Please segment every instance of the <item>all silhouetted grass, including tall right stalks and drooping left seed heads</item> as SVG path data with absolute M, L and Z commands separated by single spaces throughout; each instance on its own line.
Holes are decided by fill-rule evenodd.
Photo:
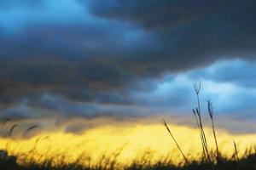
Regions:
M 196 106 L 193 109 L 193 114 L 195 116 L 195 123 L 198 128 L 199 138 L 201 139 L 201 159 L 193 161 L 189 160 L 184 154 L 182 146 L 178 144 L 177 139 L 172 133 L 172 128 L 168 126 L 165 120 L 164 126 L 166 127 L 167 133 L 172 137 L 171 139 L 177 146 L 180 154 L 183 156 L 183 162 L 180 162 L 178 165 L 174 164 L 169 157 L 160 157 L 158 161 L 152 161 L 153 153 L 148 151 L 145 152 L 143 156 L 132 161 L 131 164 L 123 166 L 120 165 L 117 161 L 117 157 L 121 150 L 117 150 L 111 156 L 102 155 L 102 158 L 97 163 L 91 162 L 91 157 L 86 155 L 83 152 L 79 158 L 72 162 L 67 162 L 68 157 L 63 153 L 56 153 L 54 156 L 49 156 L 47 159 L 42 159 L 42 161 L 35 161 L 32 157 L 36 152 L 36 145 L 38 140 L 36 140 L 35 145 L 32 150 L 27 154 L 20 154 L 16 156 L 8 155 L 8 144 L 6 150 L 0 150 L 0 169 L 6 170 L 107 170 L 107 169 L 124 169 L 124 170 L 137 170 L 137 169 L 148 169 L 148 170 L 255 170 L 256 169 L 256 149 L 250 148 L 247 150 L 244 156 L 238 156 L 238 150 L 236 147 L 236 142 L 234 144 L 234 154 L 230 158 L 222 156 L 219 152 L 218 147 L 218 138 L 217 132 L 214 124 L 214 112 L 212 101 L 207 100 L 207 112 L 208 116 L 212 122 L 212 136 L 215 143 L 215 149 L 209 150 L 207 143 L 207 136 L 204 130 L 204 125 L 202 122 L 202 111 L 200 103 L 200 92 L 201 92 L 201 83 L 195 83 L 195 94 L 196 94 Z M 3 125 L 6 122 L 10 122 L 12 119 L 7 118 L 3 121 Z M 10 127 L 9 133 L 6 135 L 7 138 L 11 137 L 15 128 L 18 127 L 18 124 L 14 124 Z M 37 125 L 33 125 L 26 129 L 26 132 L 23 136 L 26 136 L 27 133 L 33 129 L 38 128 Z M 166 134 L 167 135 L 167 134 Z M 47 137 L 45 137 L 47 138 Z M 47 152 L 46 152 L 47 153 Z M 47 154 L 46 154 L 47 155 Z M 39 156 L 39 159 L 47 157 L 45 154 Z M 19 157 L 19 162 L 17 163 L 17 157 Z M 57 160 L 57 161 L 56 161 Z

